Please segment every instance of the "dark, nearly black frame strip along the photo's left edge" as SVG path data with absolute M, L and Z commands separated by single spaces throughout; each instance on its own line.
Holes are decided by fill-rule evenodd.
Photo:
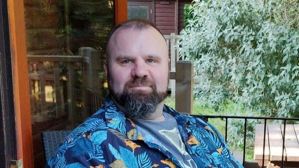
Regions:
M 10 168 L 16 160 L 16 129 L 13 102 L 13 75 L 7 1 L 0 1 L 0 167 Z

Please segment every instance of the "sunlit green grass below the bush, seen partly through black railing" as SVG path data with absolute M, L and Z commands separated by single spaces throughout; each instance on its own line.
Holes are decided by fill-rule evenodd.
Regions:
M 165 105 L 168 105 L 169 107 L 175 109 L 175 99 L 174 98 L 167 97 L 165 99 L 164 103 L 165 103 Z M 237 106 L 239 106 L 239 107 L 237 107 Z M 242 105 L 237 105 L 237 106 L 233 102 L 228 102 L 226 104 L 220 105 L 219 110 L 215 111 L 215 109 L 213 109 L 213 108 L 202 107 L 198 101 L 194 100 L 193 101 L 193 114 L 198 114 L 198 115 L 227 115 L 227 116 L 248 116 L 248 115 L 257 116 L 256 112 L 248 114 L 248 112 L 245 111 L 245 108 L 242 107 Z M 219 119 L 219 118 L 209 119 L 209 122 L 212 125 L 214 125 L 218 129 L 218 131 L 223 135 L 223 137 L 225 138 L 225 119 Z M 228 143 L 228 146 L 229 146 L 230 150 L 232 152 L 233 151 L 243 151 L 243 146 L 242 145 L 238 146 L 238 147 L 230 145 L 230 144 L 232 144 L 233 135 L 230 135 L 229 125 L 228 125 L 227 129 L 228 129 L 227 141 L 231 142 L 231 143 Z M 244 129 L 244 128 L 240 127 L 238 129 Z M 240 136 L 242 137 L 242 140 L 243 140 L 244 135 L 242 134 Z M 246 144 L 248 144 L 247 141 L 246 141 Z M 254 146 L 252 145 L 252 143 L 249 146 L 246 145 L 245 161 L 255 161 L 254 160 Z

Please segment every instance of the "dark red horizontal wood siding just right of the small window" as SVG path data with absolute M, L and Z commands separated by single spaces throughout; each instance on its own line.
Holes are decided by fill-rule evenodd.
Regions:
M 175 1 L 162 1 L 169 2 L 169 4 L 161 4 L 161 0 L 155 1 L 155 17 L 156 26 L 164 34 L 169 35 L 175 32 Z

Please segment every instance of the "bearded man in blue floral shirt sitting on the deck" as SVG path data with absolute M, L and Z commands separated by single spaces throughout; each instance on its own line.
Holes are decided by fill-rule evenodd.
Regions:
M 165 39 L 152 23 L 118 25 L 107 45 L 110 95 L 46 167 L 241 168 L 212 125 L 164 105 L 169 61 Z

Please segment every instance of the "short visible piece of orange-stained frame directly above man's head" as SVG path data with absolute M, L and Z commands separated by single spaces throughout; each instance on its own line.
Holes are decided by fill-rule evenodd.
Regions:
M 115 0 L 115 25 L 128 19 L 128 0 Z

